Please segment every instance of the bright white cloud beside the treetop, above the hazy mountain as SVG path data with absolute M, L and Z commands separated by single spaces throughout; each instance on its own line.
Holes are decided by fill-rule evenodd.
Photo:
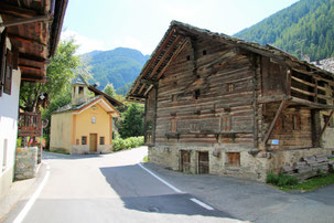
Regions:
M 79 33 L 72 31 L 72 30 L 65 30 L 62 32 L 61 38 L 64 40 L 66 38 L 74 38 L 76 44 L 79 45 L 77 50 L 77 54 L 84 54 L 91 51 L 106 51 L 106 44 L 104 41 L 93 40 L 87 36 L 80 35 Z

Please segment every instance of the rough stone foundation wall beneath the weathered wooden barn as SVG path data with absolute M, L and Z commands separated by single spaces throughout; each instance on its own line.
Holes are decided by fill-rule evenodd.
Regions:
M 198 173 L 198 151 L 208 151 L 209 173 L 247 178 L 265 182 L 268 172 L 279 173 L 287 163 L 298 162 L 302 157 L 317 153 L 330 155 L 332 151 L 323 148 L 299 150 L 260 151 L 251 148 L 209 148 L 209 147 L 149 147 L 149 161 L 172 170 L 180 170 L 180 150 L 190 151 L 190 172 Z M 255 152 L 252 152 L 255 151 Z M 230 167 L 228 152 L 240 153 L 240 166 Z

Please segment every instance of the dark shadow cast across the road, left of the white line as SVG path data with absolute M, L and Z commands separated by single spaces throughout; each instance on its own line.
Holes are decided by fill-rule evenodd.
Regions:
M 176 193 L 138 164 L 100 168 L 106 181 L 130 210 L 184 215 L 203 215 L 235 219 L 218 210 L 206 210 L 190 199 L 187 193 Z

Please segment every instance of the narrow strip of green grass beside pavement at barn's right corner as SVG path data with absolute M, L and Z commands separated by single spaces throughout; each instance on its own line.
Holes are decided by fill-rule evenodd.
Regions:
M 279 190 L 283 190 L 283 191 L 292 191 L 292 190 L 297 190 L 297 191 L 302 191 L 302 192 L 310 192 L 313 191 L 317 188 L 322 188 L 328 184 L 333 184 L 334 183 L 334 173 L 328 173 L 325 176 L 319 176 L 319 177 L 314 177 L 311 178 L 304 182 L 294 184 L 294 185 L 274 185 L 272 183 L 272 185 L 274 185 L 276 188 L 278 188 Z

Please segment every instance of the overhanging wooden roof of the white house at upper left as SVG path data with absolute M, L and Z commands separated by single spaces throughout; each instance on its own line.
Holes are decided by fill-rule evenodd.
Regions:
M 49 59 L 54 55 L 68 0 L 2 0 L 0 26 L 7 28 L 19 55 L 21 78 L 45 82 Z

